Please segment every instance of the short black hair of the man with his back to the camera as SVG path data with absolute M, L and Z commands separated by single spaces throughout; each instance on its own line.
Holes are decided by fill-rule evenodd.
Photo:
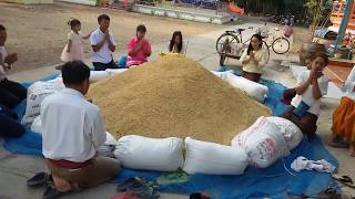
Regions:
M 61 71 L 64 85 L 81 84 L 90 76 L 89 66 L 81 61 L 67 62 Z

